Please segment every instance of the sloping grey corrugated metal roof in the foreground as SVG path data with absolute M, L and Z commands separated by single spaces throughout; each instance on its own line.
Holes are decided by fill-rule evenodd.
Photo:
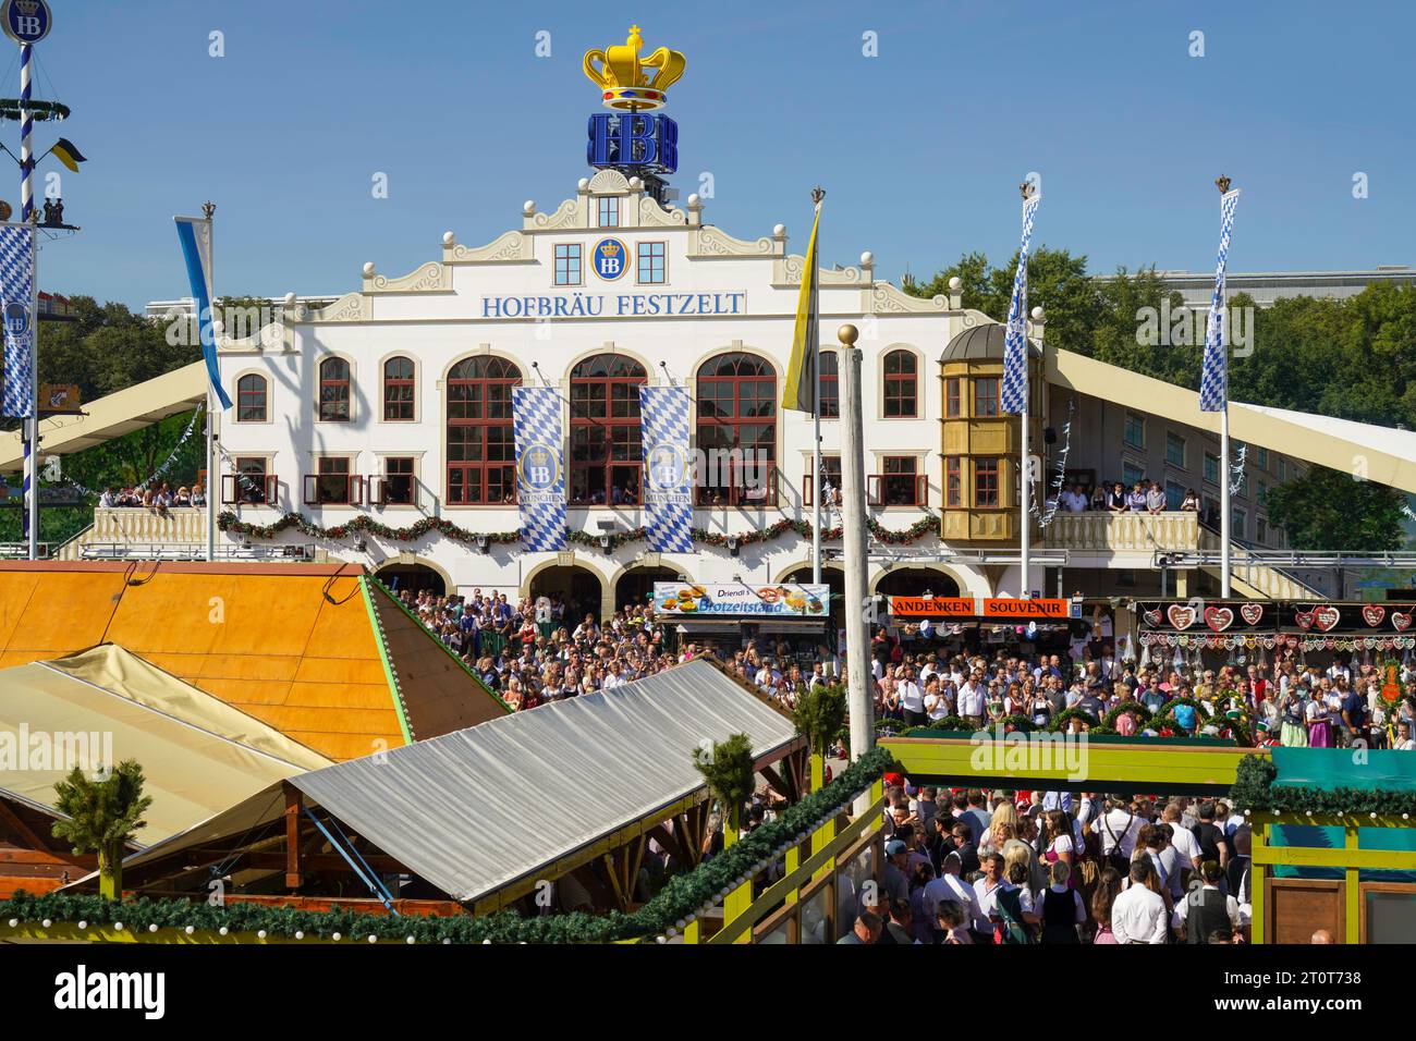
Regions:
M 792 722 L 705 661 L 329 766 L 292 783 L 443 892 L 472 901 L 702 787 L 692 749 Z

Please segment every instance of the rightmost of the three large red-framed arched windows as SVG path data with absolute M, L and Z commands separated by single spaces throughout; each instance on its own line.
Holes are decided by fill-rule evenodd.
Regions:
M 777 374 L 755 354 L 731 351 L 698 368 L 698 477 L 705 506 L 776 501 Z

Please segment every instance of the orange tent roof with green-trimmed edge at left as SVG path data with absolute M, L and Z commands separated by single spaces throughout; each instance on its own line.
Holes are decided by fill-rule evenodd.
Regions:
M 330 759 L 354 759 L 415 736 L 374 596 L 350 564 L 0 562 L 0 669 L 118 643 Z M 473 677 L 453 678 L 467 684 L 464 704 L 439 724 L 506 711 Z

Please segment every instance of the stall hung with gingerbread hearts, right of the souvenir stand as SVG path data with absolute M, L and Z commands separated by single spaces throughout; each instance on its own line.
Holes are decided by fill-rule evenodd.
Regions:
M 1412 661 L 1416 605 L 1297 601 L 1137 601 L 1141 664 L 1267 666 L 1276 656 L 1325 667 Z M 1399 694 L 1393 694 L 1392 701 Z

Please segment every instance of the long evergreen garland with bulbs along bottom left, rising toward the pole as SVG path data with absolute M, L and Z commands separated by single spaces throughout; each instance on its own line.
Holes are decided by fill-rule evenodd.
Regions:
M 45 894 L 35 897 L 17 892 L 0 901 L 0 923 L 17 922 L 79 922 L 113 925 L 122 922 L 125 931 L 146 933 L 149 926 L 231 933 L 256 933 L 293 938 L 303 932 L 309 938 L 331 939 L 338 932 L 343 939 L 367 943 L 370 936 L 394 943 L 405 943 L 412 936 L 418 943 L 607 943 L 623 939 L 649 939 L 673 935 L 704 906 L 721 899 L 725 889 L 736 887 L 739 878 L 755 875 L 766 863 L 777 858 L 777 850 L 793 846 L 797 837 L 816 830 L 833 817 L 860 792 L 869 787 L 888 770 L 899 769 L 893 756 L 875 748 L 841 770 L 830 785 L 789 806 L 780 817 L 746 834 L 735 846 L 724 850 L 692 871 L 675 875 L 644 906 L 633 914 L 612 911 L 606 915 L 573 912 L 521 918 L 513 911 L 493 915 L 404 916 L 371 915 L 364 911 L 297 911 L 289 905 L 231 904 L 212 906 L 183 899 L 105 901 L 92 895 Z

